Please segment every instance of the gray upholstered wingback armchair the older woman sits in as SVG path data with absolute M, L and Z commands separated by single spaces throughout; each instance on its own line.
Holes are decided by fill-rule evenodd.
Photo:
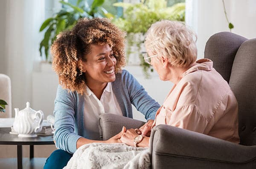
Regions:
M 230 32 L 214 34 L 207 41 L 204 54 L 235 93 L 239 103 L 240 144 L 158 125 L 150 137 L 153 169 L 256 168 L 256 39 L 247 40 Z M 104 140 L 120 132 L 122 126 L 141 125 L 141 121 L 111 114 L 103 114 L 99 120 Z

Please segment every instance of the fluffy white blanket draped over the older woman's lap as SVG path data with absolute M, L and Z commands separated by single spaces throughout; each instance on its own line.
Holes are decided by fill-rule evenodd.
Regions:
M 149 169 L 149 149 L 122 143 L 85 144 L 64 169 Z

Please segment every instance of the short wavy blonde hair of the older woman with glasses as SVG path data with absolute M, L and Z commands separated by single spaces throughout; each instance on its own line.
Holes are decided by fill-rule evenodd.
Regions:
M 197 58 L 196 39 L 196 34 L 183 23 L 162 20 L 148 29 L 145 46 L 153 54 L 166 57 L 172 65 L 188 67 Z

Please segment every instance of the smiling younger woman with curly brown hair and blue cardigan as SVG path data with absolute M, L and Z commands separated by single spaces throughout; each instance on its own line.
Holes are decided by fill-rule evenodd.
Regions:
M 132 118 L 133 104 L 151 127 L 160 105 L 126 70 L 125 34 L 107 19 L 79 20 L 74 28 L 58 35 L 52 45 L 52 67 L 59 78 L 55 99 L 55 134 L 58 150 L 44 169 L 63 168 L 80 146 L 89 143 L 119 143 L 123 130 L 108 141 L 99 141 L 102 113 Z M 145 130 L 144 130 L 145 129 Z

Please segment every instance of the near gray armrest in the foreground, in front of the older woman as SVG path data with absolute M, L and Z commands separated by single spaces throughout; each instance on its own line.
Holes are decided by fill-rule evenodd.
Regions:
M 256 146 L 243 146 L 168 125 L 151 131 L 152 168 L 253 168 Z M 168 159 L 168 160 L 167 160 Z M 167 160 L 167 161 L 166 161 Z M 241 164 L 241 165 L 235 165 Z

